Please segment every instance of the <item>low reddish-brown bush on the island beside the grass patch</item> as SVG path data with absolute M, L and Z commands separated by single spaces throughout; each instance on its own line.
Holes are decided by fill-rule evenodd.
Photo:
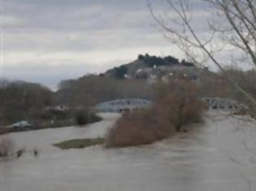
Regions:
M 125 113 L 106 135 L 106 146 L 149 144 L 167 138 L 172 130 L 172 125 L 159 120 L 153 109 Z

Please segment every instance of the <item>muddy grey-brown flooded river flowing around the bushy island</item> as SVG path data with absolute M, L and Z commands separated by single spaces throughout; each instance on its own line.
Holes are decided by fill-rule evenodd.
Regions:
M 103 136 L 118 115 L 85 128 L 10 134 L 20 159 L 2 161 L 1 191 L 246 191 L 256 190 L 256 124 L 209 112 L 188 134 L 149 146 L 61 151 L 72 138 Z M 37 157 L 30 150 L 37 148 Z

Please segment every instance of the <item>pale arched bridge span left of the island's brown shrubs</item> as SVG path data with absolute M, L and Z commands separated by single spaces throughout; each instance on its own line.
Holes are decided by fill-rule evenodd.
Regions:
M 106 101 L 95 106 L 97 112 L 129 112 L 137 109 L 148 108 L 151 104 L 149 100 L 122 99 Z

